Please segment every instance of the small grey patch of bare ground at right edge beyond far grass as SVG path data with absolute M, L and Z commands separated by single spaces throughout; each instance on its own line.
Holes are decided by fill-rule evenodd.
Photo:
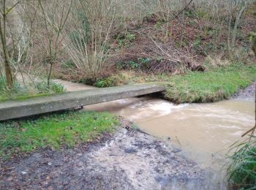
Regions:
M 233 95 L 233 99 L 255 99 L 256 81 Z

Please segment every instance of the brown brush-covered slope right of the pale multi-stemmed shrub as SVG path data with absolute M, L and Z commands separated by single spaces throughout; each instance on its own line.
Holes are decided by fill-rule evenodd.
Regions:
M 212 64 L 219 66 L 230 62 L 255 61 L 252 51 L 247 47 L 251 44 L 249 34 L 253 31 L 256 20 L 248 14 L 239 18 L 243 22 L 237 23 L 238 32 L 233 40 L 236 48 L 231 50 L 228 41 L 232 35 L 229 36 L 229 33 L 236 24 L 234 15 L 237 6 L 233 7 L 231 26 L 227 4 L 216 6 L 216 12 L 206 12 L 206 7 L 209 9 L 210 4 L 189 4 L 185 9 L 184 19 L 181 14 L 175 16 L 179 12 L 166 8 L 165 11 L 151 9 L 150 14 L 136 22 L 127 18 L 120 28 L 116 28 L 116 21 L 108 40 L 105 69 L 97 77 L 79 75 L 77 81 L 91 83 L 102 77 L 116 75 L 121 70 L 144 72 L 148 75 L 173 75 L 187 70 L 203 72 L 206 68 L 202 64 L 209 59 Z M 74 71 L 73 67 L 69 69 Z M 61 74 L 60 67 L 56 68 L 55 74 L 56 77 L 69 79 Z M 76 80 L 75 77 L 71 78 Z

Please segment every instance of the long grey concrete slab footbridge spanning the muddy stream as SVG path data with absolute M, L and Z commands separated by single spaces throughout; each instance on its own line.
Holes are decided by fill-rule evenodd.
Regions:
M 0 102 L 0 121 L 68 110 L 89 104 L 110 102 L 116 99 L 125 99 L 161 91 L 165 91 L 163 84 L 148 83 L 110 88 L 95 88 L 26 100 Z

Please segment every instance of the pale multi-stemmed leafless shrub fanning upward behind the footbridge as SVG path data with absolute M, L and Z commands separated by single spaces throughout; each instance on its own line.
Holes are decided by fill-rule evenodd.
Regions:
M 105 69 L 115 18 L 115 0 L 80 0 L 72 9 L 65 50 L 88 77 L 97 77 Z

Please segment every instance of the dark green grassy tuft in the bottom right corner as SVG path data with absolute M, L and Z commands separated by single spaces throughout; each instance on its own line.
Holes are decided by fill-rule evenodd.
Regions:
M 256 137 L 235 143 L 232 151 L 235 153 L 227 166 L 229 183 L 236 189 L 256 189 Z

